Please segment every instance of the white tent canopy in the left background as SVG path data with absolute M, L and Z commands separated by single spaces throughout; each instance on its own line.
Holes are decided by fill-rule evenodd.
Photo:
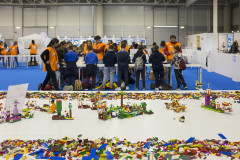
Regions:
M 50 42 L 50 38 L 47 37 L 45 33 L 40 34 L 31 34 L 18 38 L 18 46 L 20 54 L 30 54 L 29 44 L 32 43 L 32 40 L 38 45 L 38 54 L 41 54 L 46 48 L 47 44 Z

